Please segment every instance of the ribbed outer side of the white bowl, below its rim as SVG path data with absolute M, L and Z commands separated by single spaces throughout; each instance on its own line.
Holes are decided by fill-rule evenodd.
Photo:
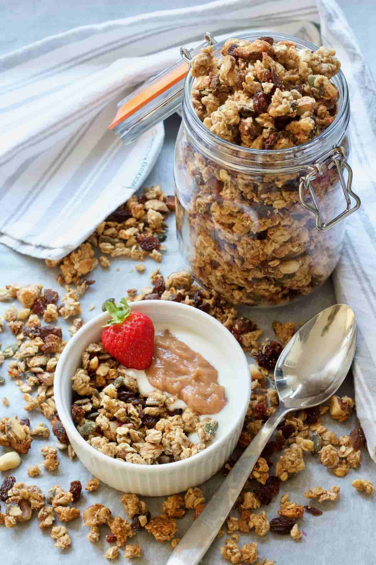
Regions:
M 83 466 L 103 483 L 122 492 L 142 494 L 143 496 L 169 496 L 187 490 L 191 486 L 200 485 L 215 475 L 235 449 L 242 425 L 242 422 L 238 424 L 228 441 L 220 449 L 214 450 L 210 459 L 205 460 L 205 464 L 202 464 L 202 462 L 197 464 L 193 456 L 189 459 L 189 464 L 180 469 L 179 473 L 174 472 L 173 465 L 165 473 L 158 472 L 161 467 L 157 470 L 156 466 L 145 466 L 142 472 L 136 467 L 134 471 L 121 470 L 118 466 L 113 465 L 113 460 L 110 457 L 108 458 L 108 465 L 102 464 L 95 458 L 95 453 L 92 453 L 89 446 L 83 450 L 74 441 L 74 437 L 69 437 L 69 440 Z

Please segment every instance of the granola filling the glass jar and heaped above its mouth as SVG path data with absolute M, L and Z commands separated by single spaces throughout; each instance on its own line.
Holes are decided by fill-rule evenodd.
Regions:
M 329 79 L 339 62 L 325 47 L 311 53 L 267 39 L 230 39 L 222 59 L 214 58 L 212 47 L 204 49 L 192 62 L 192 102 L 224 140 L 282 150 L 312 140 L 335 119 L 338 92 Z M 235 146 L 237 152 L 242 157 Z M 239 172 L 185 137 L 176 155 L 178 237 L 197 281 L 233 303 L 275 305 L 328 278 L 343 227 L 317 231 L 312 212 L 299 203 L 302 171 L 274 173 L 275 158 L 267 154 L 257 165 L 267 172 Z M 312 184 L 324 216 L 336 215 L 337 171 L 324 163 Z

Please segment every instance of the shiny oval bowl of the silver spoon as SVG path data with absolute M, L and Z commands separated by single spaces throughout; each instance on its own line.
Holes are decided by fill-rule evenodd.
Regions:
M 335 393 L 350 369 L 356 336 L 355 314 L 346 304 L 322 310 L 295 333 L 274 372 L 286 408 L 317 406 Z

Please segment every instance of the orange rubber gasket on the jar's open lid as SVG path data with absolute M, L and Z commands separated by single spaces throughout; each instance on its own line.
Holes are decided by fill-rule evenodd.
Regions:
M 134 114 L 137 110 L 145 106 L 148 102 L 157 98 L 163 92 L 166 92 L 171 86 L 174 86 L 177 82 L 184 79 L 189 71 L 189 66 L 187 63 L 182 63 L 179 67 L 175 68 L 173 71 L 169 72 L 167 75 L 162 76 L 160 80 L 154 82 L 147 86 L 144 90 L 141 90 L 129 101 L 125 102 L 118 111 L 112 123 L 108 126 L 108 129 L 113 129 L 122 121 L 126 120 Z

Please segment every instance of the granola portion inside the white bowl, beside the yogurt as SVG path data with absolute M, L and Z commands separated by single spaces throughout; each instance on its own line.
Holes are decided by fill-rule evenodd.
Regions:
M 152 465 L 187 459 L 213 440 L 218 424 L 186 407 L 177 397 L 154 390 L 140 395 L 132 370 L 105 351 L 101 342 L 82 353 L 72 377 L 71 414 L 78 432 L 94 449 L 127 463 Z M 210 433 L 206 429 L 210 427 Z M 189 433 L 198 432 L 194 444 Z

